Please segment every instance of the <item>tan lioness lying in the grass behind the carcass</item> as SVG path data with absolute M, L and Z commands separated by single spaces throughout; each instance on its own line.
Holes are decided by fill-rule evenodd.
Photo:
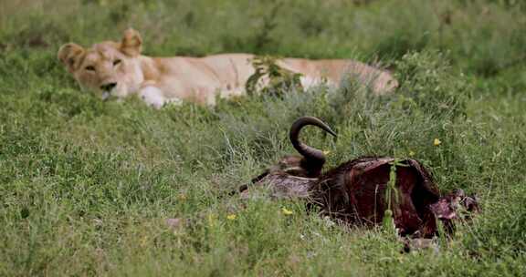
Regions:
M 141 53 L 141 36 L 128 29 L 121 42 L 104 41 L 88 49 L 68 43 L 58 50 L 58 59 L 80 87 L 97 92 L 103 99 L 138 94 L 155 108 L 181 100 L 214 105 L 217 95 L 242 95 L 247 78 L 255 72 L 251 65 L 254 56 L 249 54 L 150 57 Z M 337 84 L 345 73 L 361 83 L 370 82 L 376 94 L 397 86 L 389 73 L 350 60 L 284 58 L 278 65 L 300 73 L 303 87 L 321 80 Z

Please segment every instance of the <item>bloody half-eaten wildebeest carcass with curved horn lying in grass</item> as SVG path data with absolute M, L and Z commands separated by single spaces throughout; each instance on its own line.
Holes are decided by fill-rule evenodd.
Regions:
M 383 222 L 385 210 L 391 210 L 398 234 L 421 238 L 437 234 L 437 220 L 452 231 L 460 207 L 478 209 L 477 201 L 461 190 L 441 197 L 431 175 L 415 159 L 364 157 L 322 173 L 324 153 L 299 139 L 301 128 L 308 125 L 336 136 L 318 118 L 299 118 L 289 139 L 301 157 L 286 156 L 252 180 L 254 185 L 267 185 L 274 197 L 305 199 L 344 224 L 373 226 Z

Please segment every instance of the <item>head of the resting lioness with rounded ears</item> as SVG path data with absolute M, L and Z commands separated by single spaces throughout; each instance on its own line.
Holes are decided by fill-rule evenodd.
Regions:
M 105 41 L 86 49 L 68 43 L 58 50 L 58 59 L 80 87 L 106 99 L 110 96 L 125 97 L 139 89 L 144 80 L 141 51 L 141 36 L 137 31 L 128 29 L 121 42 Z

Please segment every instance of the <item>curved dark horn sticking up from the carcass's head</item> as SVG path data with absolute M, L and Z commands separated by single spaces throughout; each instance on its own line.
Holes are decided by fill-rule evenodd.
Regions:
M 305 157 L 305 159 L 316 159 L 324 162 L 325 154 L 323 154 L 321 150 L 311 148 L 310 146 L 300 142 L 300 130 L 307 125 L 317 126 L 334 137 L 336 137 L 336 133 L 334 133 L 334 131 L 332 131 L 332 129 L 327 124 L 325 124 L 325 122 L 313 117 L 298 118 L 296 121 L 294 121 L 294 123 L 292 123 L 292 127 L 290 127 L 289 139 L 290 142 L 292 142 L 294 149 L 296 149 L 303 157 Z

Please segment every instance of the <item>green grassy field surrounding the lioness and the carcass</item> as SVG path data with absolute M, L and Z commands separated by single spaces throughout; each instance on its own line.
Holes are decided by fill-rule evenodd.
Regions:
M 0 276 L 525 274 L 521 1 L 131 3 L 0 1 Z M 161 110 L 81 92 L 58 46 L 128 26 L 151 56 L 354 58 L 391 68 L 401 86 L 371 97 L 342 81 Z M 345 230 L 300 202 L 226 197 L 294 153 L 289 126 L 304 115 L 339 134 L 306 132 L 331 151 L 326 168 L 411 154 L 440 190 L 477 194 L 481 213 L 438 251 L 405 254 L 381 230 Z

